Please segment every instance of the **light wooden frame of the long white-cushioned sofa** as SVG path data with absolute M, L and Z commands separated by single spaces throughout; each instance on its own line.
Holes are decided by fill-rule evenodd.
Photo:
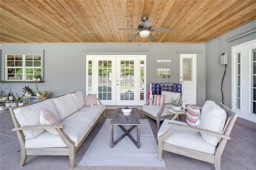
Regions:
M 100 102 L 100 99 L 97 99 L 97 101 L 100 103 L 100 105 L 102 105 L 102 103 Z M 35 103 L 39 103 L 42 101 L 37 101 L 34 103 L 29 103 L 27 105 L 23 105 L 23 106 L 19 106 L 19 107 L 25 107 L 28 105 L 33 105 Z M 99 118 L 97 119 L 97 121 L 94 123 L 94 125 L 90 128 L 90 130 L 88 130 L 88 132 L 86 133 L 86 135 L 82 138 L 81 142 L 78 144 L 78 146 L 75 146 L 75 142 L 73 140 L 71 140 L 66 134 L 65 132 L 62 130 L 62 128 L 64 127 L 63 124 L 59 124 L 59 125 L 35 125 L 35 126 L 24 126 L 24 127 L 20 127 L 20 124 L 18 123 L 15 114 L 13 112 L 14 109 L 16 109 L 18 107 L 13 107 L 10 109 L 10 113 L 12 115 L 12 121 L 14 123 L 14 127 L 12 129 L 12 131 L 16 131 L 17 135 L 18 135 L 18 139 L 20 142 L 20 148 L 21 148 L 21 160 L 20 160 L 20 166 L 23 166 L 26 162 L 27 156 L 28 155 L 58 155 L 58 156 L 69 156 L 69 160 L 70 160 L 70 168 L 74 168 L 75 167 L 75 158 L 76 158 L 76 151 L 78 150 L 78 148 L 82 145 L 82 143 L 84 142 L 84 140 L 86 139 L 86 137 L 90 134 L 90 132 L 92 131 L 92 129 L 95 127 L 95 125 L 98 123 L 99 119 L 101 118 L 101 116 L 103 115 L 103 117 L 105 117 L 105 112 L 106 110 L 104 110 Z M 63 140 L 63 142 L 67 145 L 67 147 L 55 147 L 55 148 L 26 148 L 25 147 L 25 136 L 22 132 L 22 130 L 30 130 L 30 129 L 42 129 L 42 128 L 56 128 L 60 134 L 60 138 Z

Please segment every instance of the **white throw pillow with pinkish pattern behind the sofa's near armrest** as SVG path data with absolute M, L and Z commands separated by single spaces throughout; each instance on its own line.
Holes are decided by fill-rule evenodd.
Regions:
M 57 125 L 60 124 L 60 121 L 52 112 L 46 109 L 41 109 L 40 123 L 41 125 Z M 45 130 L 47 130 L 51 134 L 59 135 L 56 128 L 46 128 Z

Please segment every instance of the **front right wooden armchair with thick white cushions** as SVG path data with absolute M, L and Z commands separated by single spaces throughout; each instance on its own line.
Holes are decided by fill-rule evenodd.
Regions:
M 196 109 L 188 113 L 195 113 Z M 200 115 L 200 114 L 199 114 Z M 237 114 L 223 104 L 213 101 L 204 104 L 199 128 L 191 122 L 164 120 L 158 131 L 158 159 L 162 160 L 162 151 L 173 152 L 215 165 L 220 170 L 220 158 Z

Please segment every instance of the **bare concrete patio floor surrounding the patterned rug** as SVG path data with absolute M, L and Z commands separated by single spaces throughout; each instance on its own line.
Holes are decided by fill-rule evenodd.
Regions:
M 142 110 L 138 110 L 142 119 Z M 92 140 L 106 119 L 111 119 L 115 110 L 107 109 L 106 117 L 101 118 L 76 153 L 74 170 L 213 170 L 214 164 L 203 162 L 186 156 L 164 151 L 163 159 L 166 168 L 120 167 L 120 166 L 78 166 Z M 157 141 L 156 121 L 148 119 Z M 180 120 L 182 118 L 180 117 Z M 69 170 L 68 156 L 28 156 L 26 164 L 20 167 L 20 143 L 10 111 L 0 113 L 0 169 L 1 170 Z M 237 119 L 230 134 L 221 158 L 224 170 L 255 170 L 256 169 L 256 124 Z M 108 142 L 108 141 L 106 141 Z M 110 141 L 109 141 L 110 142 Z

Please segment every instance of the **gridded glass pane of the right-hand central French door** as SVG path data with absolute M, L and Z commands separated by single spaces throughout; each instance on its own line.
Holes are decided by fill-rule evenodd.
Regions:
M 134 61 L 120 61 L 120 100 L 134 100 Z

